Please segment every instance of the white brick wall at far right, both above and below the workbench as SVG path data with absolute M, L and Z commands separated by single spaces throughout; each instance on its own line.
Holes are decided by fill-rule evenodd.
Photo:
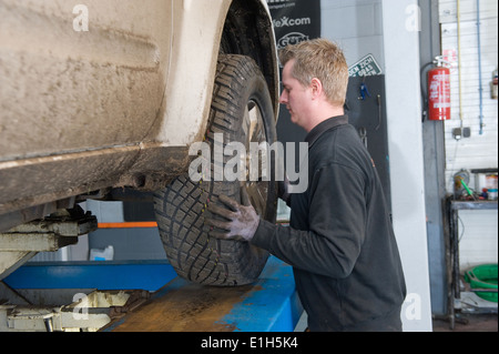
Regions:
M 442 53 L 455 63 L 451 70 L 451 120 L 445 122 L 446 186 L 454 192 L 454 174 L 461 169 L 498 168 L 498 101 L 491 99 L 492 71 L 498 68 L 498 3 L 479 0 L 480 50 L 478 51 L 477 0 L 460 1 L 461 27 L 461 97 L 459 98 L 458 62 L 458 7 L 457 0 L 439 0 Z M 480 82 L 479 64 L 482 78 Z M 482 117 L 480 133 L 480 91 L 482 89 Z M 452 130 L 470 128 L 471 136 L 456 140 Z M 475 186 L 473 174 L 470 186 Z M 462 211 L 460 218 L 459 261 L 461 270 L 498 261 L 498 212 Z

